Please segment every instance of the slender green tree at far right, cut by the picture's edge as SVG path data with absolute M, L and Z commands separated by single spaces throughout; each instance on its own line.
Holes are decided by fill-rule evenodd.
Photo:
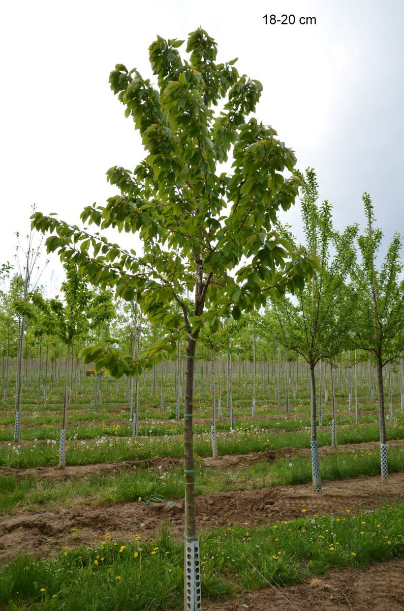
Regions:
M 383 233 L 375 228 L 372 200 L 363 195 L 367 221 L 364 235 L 359 236 L 361 260 L 352 269 L 352 280 L 358 293 L 358 312 L 353 335 L 356 345 L 372 354 L 377 365 L 380 419 L 381 478 L 388 478 L 386 421 L 384 420 L 383 367 L 399 362 L 404 349 L 404 281 L 400 281 L 402 238 L 399 233 L 389 246 L 384 262 L 377 269 L 377 257 Z

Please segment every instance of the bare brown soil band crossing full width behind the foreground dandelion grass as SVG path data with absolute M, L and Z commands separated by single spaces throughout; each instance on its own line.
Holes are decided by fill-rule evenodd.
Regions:
M 251 526 L 270 524 L 278 519 L 294 519 L 306 509 L 314 513 L 342 513 L 345 510 L 377 507 L 381 500 L 391 502 L 404 496 L 404 473 L 392 474 L 388 483 L 379 477 L 356 478 L 325 483 L 322 494 L 311 485 L 265 488 L 242 492 L 218 492 L 198 496 L 198 529 L 248 522 Z M 18 513 L 0 518 L 0 560 L 7 560 L 24 549 L 54 554 L 62 545 L 78 547 L 93 541 L 96 533 L 109 532 L 120 540 L 132 540 L 134 533 L 154 536 L 164 521 L 173 535 L 182 537 L 184 502 L 121 503 L 93 507 L 90 504 L 60 511 Z M 72 529 L 76 529 L 76 538 Z M 235 607 L 237 608 L 237 607 Z M 258 607 L 259 609 L 259 607 Z

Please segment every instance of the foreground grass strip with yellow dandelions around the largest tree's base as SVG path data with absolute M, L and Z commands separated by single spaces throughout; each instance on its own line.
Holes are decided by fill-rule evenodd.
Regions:
M 404 506 L 353 516 L 313 516 L 272 526 L 217 529 L 202 534 L 204 596 L 297 584 L 331 569 L 368 566 L 404 555 Z M 167 529 L 155 540 L 112 541 L 63 549 L 54 559 L 23 555 L 0 573 L 5 611 L 126 611 L 181 609 L 183 546 Z

